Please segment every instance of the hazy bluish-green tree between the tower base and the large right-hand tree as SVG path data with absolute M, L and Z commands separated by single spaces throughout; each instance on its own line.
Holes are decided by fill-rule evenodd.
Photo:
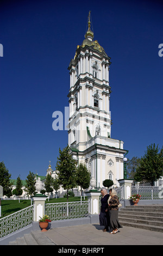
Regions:
M 140 162 L 140 159 L 135 156 L 131 160 L 128 159 L 126 163 L 128 179 L 134 179 L 136 168 L 139 166 L 139 162 Z

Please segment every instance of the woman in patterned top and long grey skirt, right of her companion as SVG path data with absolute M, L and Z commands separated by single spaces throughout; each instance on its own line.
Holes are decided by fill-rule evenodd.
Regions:
M 120 204 L 119 199 L 117 197 L 117 192 L 114 189 L 109 190 L 109 217 L 110 217 L 110 229 L 112 232 L 110 234 L 116 234 L 118 232 L 118 228 L 122 228 L 121 224 L 118 221 L 118 205 Z

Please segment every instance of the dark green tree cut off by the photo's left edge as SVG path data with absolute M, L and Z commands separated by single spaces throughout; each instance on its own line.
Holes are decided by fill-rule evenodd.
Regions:
M 10 181 L 11 174 L 9 170 L 5 167 L 4 162 L 0 162 L 0 185 L 3 187 L 3 196 L 12 196 L 12 184 Z

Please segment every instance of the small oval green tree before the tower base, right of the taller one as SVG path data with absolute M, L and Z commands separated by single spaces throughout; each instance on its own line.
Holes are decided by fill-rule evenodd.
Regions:
M 83 188 L 83 190 L 85 190 L 86 188 L 89 188 L 90 180 L 91 180 L 90 171 L 86 168 L 85 164 L 80 163 L 76 171 L 77 185 L 80 186 L 81 189 Z M 82 191 L 81 191 L 81 196 L 82 196 Z

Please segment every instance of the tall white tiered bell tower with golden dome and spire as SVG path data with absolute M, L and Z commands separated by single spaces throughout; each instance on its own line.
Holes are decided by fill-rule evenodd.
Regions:
M 109 100 L 110 57 L 98 41 L 93 41 L 91 15 L 82 45 L 77 46 L 71 59 L 69 98 L 68 145 L 78 162 L 86 164 L 97 186 L 109 177 L 117 185 L 123 178 L 123 142 L 111 139 L 111 112 Z M 116 164 L 119 158 L 119 165 Z M 107 162 L 111 159 L 114 168 Z M 120 160 L 121 159 L 121 160 Z M 121 161 L 121 162 L 120 162 Z M 112 166 L 112 167 L 113 167 Z M 115 170 L 115 167 L 118 169 Z M 110 172 L 111 169 L 111 172 Z

